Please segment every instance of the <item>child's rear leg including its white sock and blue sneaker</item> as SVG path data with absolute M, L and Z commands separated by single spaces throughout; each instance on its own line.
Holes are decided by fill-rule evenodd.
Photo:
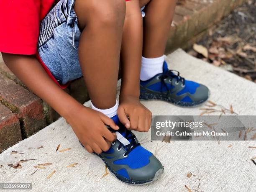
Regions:
M 145 1 L 141 0 L 141 3 Z M 210 92 L 206 86 L 187 81 L 179 76 L 179 72 L 173 73 L 168 69 L 164 51 L 175 5 L 176 0 L 151 0 L 146 6 L 140 98 L 191 107 L 205 102 Z

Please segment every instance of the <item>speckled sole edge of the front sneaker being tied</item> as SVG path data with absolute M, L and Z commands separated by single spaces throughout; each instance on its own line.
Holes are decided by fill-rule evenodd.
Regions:
M 155 182 L 159 176 L 164 173 L 164 169 L 159 169 L 156 174 L 155 174 L 155 177 L 153 179 L 150 179 L 150 180 L 146 180 L 146 181 L 136 181 L 136 180 L 133 180 L 133 179 L 127 179 L 121 175 L 119 175 L 117 172 L 115 172 L 107 163 L 106 161 L 99 155 L 99 154 L 96 154 L 97 156 L 99 156 L 102 161 L 104 161 L 104 163 L 106 164 L 106 166 L 108 167 L 108 170 L 110 171 L 110 173 L 112 175 L 114 175 L 118 180 L 120 180 L 121 182 L 125 183 L 125 184 L 130 184 L 130 185 L 144 185 L 144 184 L 150 184 L 150 183 L 153 183 Z

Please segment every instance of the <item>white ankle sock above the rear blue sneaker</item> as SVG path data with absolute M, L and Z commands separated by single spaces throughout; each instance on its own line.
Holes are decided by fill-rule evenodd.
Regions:
M 141 59 L 141 80 L 146 81 L 156 74 L 163 72 L 164 55 L 157 58 L 145 58 Z

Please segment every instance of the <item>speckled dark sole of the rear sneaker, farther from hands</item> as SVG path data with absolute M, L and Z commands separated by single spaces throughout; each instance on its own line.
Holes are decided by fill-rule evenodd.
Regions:
M 207 101 L 210 97 L 210 90 L 208 92 L 208 97 L 205 100 L 200 100 L 197 102 L 183 102 L 183 101 L 177 101 L 172 99 L 171 97 L 167 97 L 165 95 L 156 95 L 153 93 L 141 93 L 140 94 L 140 100 L 141 101 L 150 101 L 150 100 L 161 100 L 161 101 L 166 101 L 166 102 L 170 102 L 174 105 L 177 105 L 179 107 L 189 107 L 189 108 L 193 108 L 193 107 L 197 107 L 199 105 L 202 105 L 205 101 Z

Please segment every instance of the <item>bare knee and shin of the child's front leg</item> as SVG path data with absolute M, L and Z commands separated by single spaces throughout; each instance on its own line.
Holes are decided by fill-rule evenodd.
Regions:
M 77 0 L 74 10 L 82 31 L 79 62 L 90 98 L 96 108 L 111 108 L 116 104 L 125 2 Z

